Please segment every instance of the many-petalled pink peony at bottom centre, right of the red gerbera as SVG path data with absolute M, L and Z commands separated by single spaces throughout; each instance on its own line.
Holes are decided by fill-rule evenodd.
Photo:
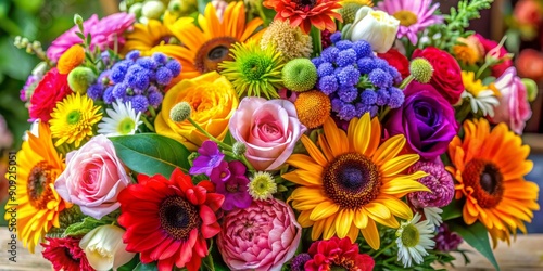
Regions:
M 255 201 L 226 215 L 217 246 L 231 270 L 281 270 L 294 256 L 301 234 L 294 212 L 283 202 Z

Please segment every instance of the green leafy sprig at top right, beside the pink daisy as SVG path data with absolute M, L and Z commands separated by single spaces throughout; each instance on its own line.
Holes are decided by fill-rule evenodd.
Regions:
M 445 24 L 435 24 L 429 27 L 430 46 L 440 49 L 450 49 L 456 44 L 459 37 L 468 37 L 469 21 L 480 17 L 480 11 L 490 9 L 494 0 L 460 0 L 457 8 L 451 8 L 451 14 L 443 15 Z M 425 44 L 427 46 L 427 44 Z

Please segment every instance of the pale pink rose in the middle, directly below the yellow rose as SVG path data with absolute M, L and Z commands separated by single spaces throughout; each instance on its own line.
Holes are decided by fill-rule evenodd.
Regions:
M 247 159 L 256 170 L 281 166 L 306 130 L 293 103 L 254 96 L 241 101 L 229 127 L 232 137 L 247 145 Z

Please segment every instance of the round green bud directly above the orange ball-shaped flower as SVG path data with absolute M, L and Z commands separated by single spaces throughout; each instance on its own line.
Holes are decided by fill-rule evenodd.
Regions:
M 308 59 L 291 60 L 282 68 L 282 81 L 292 91 L 311 90 L 317 82 L 317 68 Z

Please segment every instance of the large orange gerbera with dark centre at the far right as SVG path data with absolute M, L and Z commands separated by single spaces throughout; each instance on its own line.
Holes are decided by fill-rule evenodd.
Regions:
M 481 221 L 494 246 L 497 238 L 509 243 L 509 234 L 526 233 L 522 221 L 540 209 L 538 184 L 523 179 L 533 167 L 527 160 L 530 147 L 505 124 L 491 131 L 485 119 L 466 120 L 464 131 L 464 141 L 455 137 L 449 145 L 454 166 L 446 167 L 458 181 L 456 198 L 466 197 L 464 221 Z

